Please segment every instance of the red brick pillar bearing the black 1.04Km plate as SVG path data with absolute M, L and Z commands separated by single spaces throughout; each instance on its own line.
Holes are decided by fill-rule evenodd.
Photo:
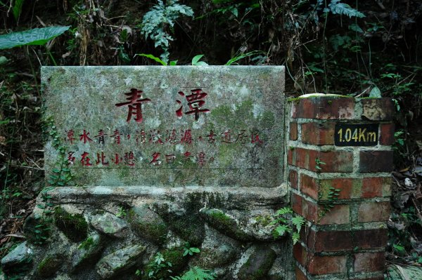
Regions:
M 392 101 L 311 95 L 288 106 L 290 199 L 307 220 L 296 279 L 384 279 Z

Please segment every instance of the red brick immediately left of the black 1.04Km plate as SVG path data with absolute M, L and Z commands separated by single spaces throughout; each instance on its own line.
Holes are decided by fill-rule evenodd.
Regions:
M 302 124 L 302 142 L 312 145 L 334 145 L 334 126 L 333 122 Z

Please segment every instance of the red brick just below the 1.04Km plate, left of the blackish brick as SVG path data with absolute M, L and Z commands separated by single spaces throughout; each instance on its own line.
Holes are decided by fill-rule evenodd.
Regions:
M 320 152 L 319 160 L 324 164 L 319 164 L 321 172 L 352 172 L 353 153 L 352 152 Z

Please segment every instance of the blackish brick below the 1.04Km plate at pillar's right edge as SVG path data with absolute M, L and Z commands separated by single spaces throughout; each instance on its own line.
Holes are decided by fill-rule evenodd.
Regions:
M 392 171 L 392 151 L 361 151 L 359 153 L 359 172 Z

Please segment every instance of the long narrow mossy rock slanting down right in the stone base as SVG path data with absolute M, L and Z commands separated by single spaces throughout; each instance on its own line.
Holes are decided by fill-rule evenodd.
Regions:
M 226 215 L 219 209 L 206 209 L 200 211 L 202 217 L 208 222 L 211 227 L 214 227 L 222 234 L 230 236 L 239 241 L 252 241 L 252 236 L 241 231 L 238 227 L 238 222 L 229 215 Z

